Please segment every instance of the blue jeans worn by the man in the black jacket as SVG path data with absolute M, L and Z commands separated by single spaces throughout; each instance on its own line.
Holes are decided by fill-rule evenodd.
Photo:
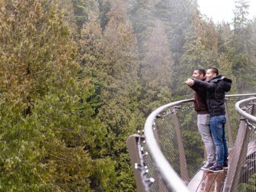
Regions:
M 216 145 L 217 160 L 216 163 L 223 165 L 228 162 L 228 145 L 225 136 L 225 115 L 212 116 L 210 119 L 210 130 L 213 135 L 213 142 Z

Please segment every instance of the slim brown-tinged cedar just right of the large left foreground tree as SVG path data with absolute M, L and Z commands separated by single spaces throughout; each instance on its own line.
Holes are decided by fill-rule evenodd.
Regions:
M 90 102 L 93 106 L 100 107 L 100 91 L 102 88 L 104 70 L 102 68 L 102 31 L 100 27 L 100 15 L 98 10 L 88 12 L 88 22 L 85 22 L 81 29 L 79 40 L 80 63 L 82 70 L 80 76 L 87 76 L 95 87 L 95 93 L 91 96 Z

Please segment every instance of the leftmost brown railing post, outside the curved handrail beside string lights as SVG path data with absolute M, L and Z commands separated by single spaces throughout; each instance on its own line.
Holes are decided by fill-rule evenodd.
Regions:
M 134 171 L 137 190 L 139 192 L 145 192 L 145 186 L 143 185 L 142 178 L 141 178 L 141 171 L 139 169 L 135 169 L 135 163 L 140 164 L 139 149 L 137 147 L 137 142 L 139 140 L 139 137 L 141 137 L 141 139 L 144 140 L 144 137 L 142 137 L 139 134 L 134 134 L 129 136 L 129 138 L 126 141 L 126 145 L 129 150 L 131 166 L 132 166 L 132 170 Z

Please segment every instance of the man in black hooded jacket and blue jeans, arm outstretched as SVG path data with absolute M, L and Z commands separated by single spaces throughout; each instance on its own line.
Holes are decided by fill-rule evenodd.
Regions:
M 206 81 L 188 79 L 186 84 L 190 87 L 205 88 L 206 103 L 211 116 L 210 130 L 216 145 L 216 164 L 209 168 L 211 172 L 220 172 L 228 167 L 228 145 L 225 137 L 225 92 L 231 88 L 232 80 L 219 75 L 218 69 L 211 67 L 206 72 Z

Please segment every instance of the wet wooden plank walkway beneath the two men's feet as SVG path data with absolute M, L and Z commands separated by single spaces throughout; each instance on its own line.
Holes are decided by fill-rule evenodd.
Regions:
M 190 180 L 188 189 L 190 192 L 220 192 L 227 173 L 227 169 L 219 173 L 199 170 L 194 178 Z

